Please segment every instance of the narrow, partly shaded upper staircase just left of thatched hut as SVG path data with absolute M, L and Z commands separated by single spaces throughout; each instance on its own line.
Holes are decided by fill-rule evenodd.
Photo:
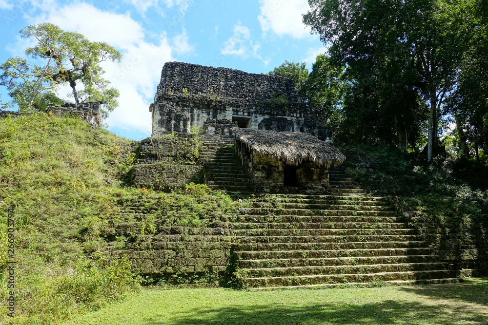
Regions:
M 205 168 L 205 179 L 211 189 L 229 194 L 250 194 L 252 185 L 241 158 L 234 147 L 234 136 L 205 134 L 200 140 L 200 162 Z

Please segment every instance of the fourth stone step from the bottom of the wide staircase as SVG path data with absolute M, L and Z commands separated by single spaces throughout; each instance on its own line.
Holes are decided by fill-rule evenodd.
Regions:
M 270 247 L 275 248 L 276 246 L 267 246 L 267 248 Z M 305 245 L 302 247 L 305 247 Z M 432 255 L 434 253 L 434 249 L 427 247 L 426 242 L 328 243 L 323 245 L 323 247 L 328 249 L 245 250 L 236 252 L 236 256 L 240 260 L 289 260 Z M 309 244 L 308 249 L 310 249 Z

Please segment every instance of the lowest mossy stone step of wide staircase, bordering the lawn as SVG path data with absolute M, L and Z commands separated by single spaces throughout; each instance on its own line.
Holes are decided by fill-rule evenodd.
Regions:
M 468 272 L 454 270 L 431 270 L 431 271 L 405 271 L 405 272 L 380 272 L 363 274 L 330 274 L 330 275 L 303 275 L 286 277 L 260 277 L 247 278 L 251 287 L 270 286 L 303 286 L 330 283 L 377 283 L 385 281 L 417 281 L 455 278 L 463 276 Z M 464 275 L 465 276 L 465 275 Z

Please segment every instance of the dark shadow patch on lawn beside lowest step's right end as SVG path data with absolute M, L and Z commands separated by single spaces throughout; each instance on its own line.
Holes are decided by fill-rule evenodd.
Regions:
M 448 299 L 488 306 L 488 278 L 465 279 L 461 284 L 428 287 L 404 287 L 402 291 L 433 299 Z M 486 324 L 488 324 L 488 315 Z

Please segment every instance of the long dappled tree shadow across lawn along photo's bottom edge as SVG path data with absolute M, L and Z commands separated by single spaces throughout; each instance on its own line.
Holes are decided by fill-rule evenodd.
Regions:
M 467 311 L 464 306 L 424 305 L 387 300 L 372 304 L 315 304 L 306 307 L 279 304 L 239 306 L 202 312 L 193 308 L 174 318 L 183 324 L 487 324 L 486 314 Z M 155 319 L 158 316 L 155 314 Z M 141 325 L 157 325 L 146 320 Z

